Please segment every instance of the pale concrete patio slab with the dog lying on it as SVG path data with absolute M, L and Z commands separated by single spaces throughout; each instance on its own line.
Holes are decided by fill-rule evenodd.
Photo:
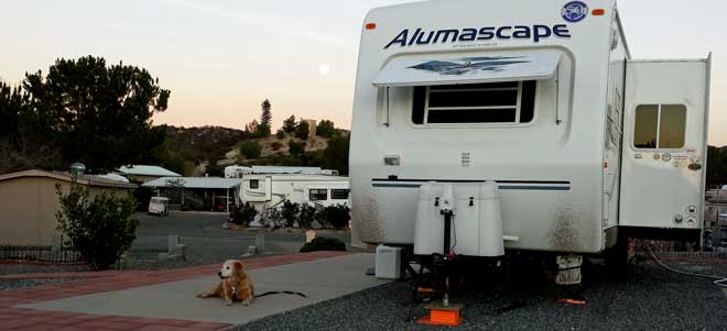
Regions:
M 249 307 L 226 307 L 220 299 L 197 299 L 219 282 L 204 276 L 122 290 L 41 301 L 18 307 L 105 316 L 164 318 L 204 322 L 243 323 L 382 285 L 386 280 L 366 276 L 373 254 L 350 254 L 310 262 L 250 271 L 256 291 L 302 291 L 310 298 L 274 295 L 256 299 Z

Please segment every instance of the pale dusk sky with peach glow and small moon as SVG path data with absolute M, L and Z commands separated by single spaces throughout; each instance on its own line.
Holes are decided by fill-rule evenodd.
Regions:
M 241 129 L 268 98 L 274 128 L 291 114 L 350 128 L 364 16 L 401 2 L 410 1 L 0 0 L 0 79 L 95 55 L 144 67 L 172 90 L 158 124 Z M 727 145 L 727 1 L 618 5 L 633 58 L 714 52 L 709 143 Z

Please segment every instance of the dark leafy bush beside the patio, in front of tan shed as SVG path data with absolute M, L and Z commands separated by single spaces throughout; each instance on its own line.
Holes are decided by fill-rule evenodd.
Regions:
M 118 198 L 108 192 L 89 200 L 87 188 L 74 185 L 67 195 L 56 185 L 61 210 L 55 214 L 58 230 L 95 271 L 108 269 L 133 243 L 139 221 L 133 197 Z

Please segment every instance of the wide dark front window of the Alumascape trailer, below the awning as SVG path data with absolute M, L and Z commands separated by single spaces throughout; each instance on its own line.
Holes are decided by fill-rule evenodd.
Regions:
M 528 123 L 535 106 L 531 81 L 415 87 L 414 124 Z

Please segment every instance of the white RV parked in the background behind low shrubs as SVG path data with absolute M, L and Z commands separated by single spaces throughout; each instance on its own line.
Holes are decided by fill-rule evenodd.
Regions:
M 304 174 L 250 174 L 242 178 L 240 200 L 258 210 L 295 203 L 349 205 L 348 177 Z

